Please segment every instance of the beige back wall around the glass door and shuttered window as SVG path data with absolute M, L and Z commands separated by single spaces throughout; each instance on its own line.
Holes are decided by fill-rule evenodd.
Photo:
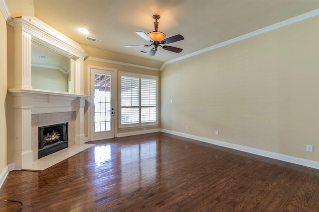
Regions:
M 101 58 L 103 59 L 105 57 L 105 54 L 103 54 L 103 50 L 100 49 L 95 49 L 96 51 L 92 54 L 92 51 L 94 51 L 94 48 L 90 48 L 91 54 L 89 54 L 89 57 L 92 57 L 91 55 L 94 55 L 96 58 Z M 116 69 L 117 70 L 117 76 L 119 76 L 119 71 L 126 71 L 126 72 L 134 72 L 134 73 L 140 73 L 140 74 L 149 74 L 149 75 L 155 75 L 159 76 L 159 85 L 160 85 L 160 71 L 153 71 L 153 70 L 148 70 L 148 69 L 141 69 L 141 68 L 136 68 L 136 67 L 131 67 L 131 66 L 124 66 L 124 65 L 118 65 L 118 64 L 111 64 L 111 63 L 105 63 L 105 62 L 97 62 L 97 61 L 92 61 L 92 60 L 85 60 L 84 61 L 84 92 L 86 95 L 89 95 L 89 90 L 88 90 L 88 66 L 96 66 L 96 67 L 104 67 L 104 68 L 111 68 L 111 69 Z M 119 90 L 119 79 L 117 79 L 117 90 Z M 160 96 L 160 92 L 159 92 Z M 160 99 L 159 99 L 160 101 Z M 119 102 L 119 99 L 117 99 L 117 102 Z M 160 102 L 159 102 L 160 103 Z M 116 108 L 116 113 L 119 111 L 119 108 L 117 106 Z M 85 119 L 84 119 L 84 134 L 85 137 L 88 137 L 88 104 L 86 102 L 86 106 L 84 109 L 85 112 Z M 160 116 L 160 115 L 159 115 Z M 117 127 L 118 128 L 118 127 Z M 148 127 L 148 130 L 152 129 L 159 129 L 160 125 L 158 127 Z M 141 131 L 142 128 L 139 129 L 130 129 L 130 130 L 119 130 L 118 129 L 118 134 L 120 133 L 129 133 L 129 132 L 135 132 L 135 131 Z

